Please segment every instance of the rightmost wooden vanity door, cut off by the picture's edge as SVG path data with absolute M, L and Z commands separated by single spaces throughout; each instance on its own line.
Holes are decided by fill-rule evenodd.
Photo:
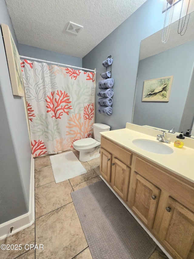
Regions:
M 194 258 L 194 213 L 169 197 L 159 238 L 175 258 Z

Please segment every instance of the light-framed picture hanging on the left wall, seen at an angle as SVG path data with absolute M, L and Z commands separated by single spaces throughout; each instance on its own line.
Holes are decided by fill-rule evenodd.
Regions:
M 20 56 L 15 46 L 8 25 L 1 24 L 5 53 L 7 57 L 9 76 L 13 95 L 24 97 L 24 83 L 20 65 Z

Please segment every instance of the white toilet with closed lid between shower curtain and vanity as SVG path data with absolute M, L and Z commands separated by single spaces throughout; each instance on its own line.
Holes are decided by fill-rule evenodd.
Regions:
M 100 156 L 100 132 L 109 131 L 110 126 L 94 123 L 94 138 L 82 138 L 73 142 L 73 148 L 79 151 L 79 161 L 87 162 Z

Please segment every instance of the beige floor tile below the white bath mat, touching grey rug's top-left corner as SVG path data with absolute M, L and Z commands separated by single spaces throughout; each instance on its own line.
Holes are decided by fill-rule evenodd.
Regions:
M 69 180 L 51 182 L 35 188 L 35 217 L 38 218 L 72 202 L 72 191 Z

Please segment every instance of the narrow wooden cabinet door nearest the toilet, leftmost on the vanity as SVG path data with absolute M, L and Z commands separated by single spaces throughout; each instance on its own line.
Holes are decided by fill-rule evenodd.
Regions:
M 105 149 L 100 149 L 100 172 L 102 177 L 110 183 L 112 155 Z

